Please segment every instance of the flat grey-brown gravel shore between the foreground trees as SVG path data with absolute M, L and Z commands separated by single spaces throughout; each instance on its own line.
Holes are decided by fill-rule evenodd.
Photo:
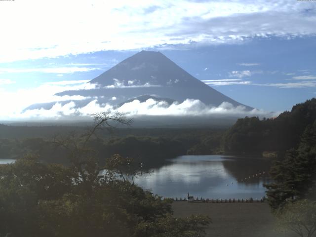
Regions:
M 190 203 L 174 201 L 174 216 L 208 215 L 207 237 L 295 237 L 279 233 L 267 203 Z

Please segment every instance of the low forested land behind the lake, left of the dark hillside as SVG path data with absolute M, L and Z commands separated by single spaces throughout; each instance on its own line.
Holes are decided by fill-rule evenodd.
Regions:
M 30 130 L 32 127 L 5 126 L 6 132 L 10 129 Z M 68 162 L 66 151 L 54 144 L 54 137 L 70 134 L 84 134 L 86 127 L 66 127 L 64 131 L 56 126 L 35 127 L 38 131 L 33 136 L 24 137 L 16 133 L 16 137 L 0 139 L 0 158 L 21 158 L 25 154 L 36 154 L 47 162 Z M 1 128 L 0 128 L 1 129 Z M 49 132 L 48 132 L 49 131 Z M 59 133 L 58 133 L 59 131 Z M 117 128 L 112 133 L 98 132 L 97 137 L 89 141 L 89 146 L 96 151 L 100 162 L 113 154 L 122 154 L 142 160 L 147 167 L 161 165 L 166 159 L 186 154 L 212 154 L 220 146 L 223 129 L 139 129 Z M 46 135 L 45 135 L 46 134 Z M 47 135 L 49 134 L 49 135 Z M 41 136 L 34 136 L 41 135 Z

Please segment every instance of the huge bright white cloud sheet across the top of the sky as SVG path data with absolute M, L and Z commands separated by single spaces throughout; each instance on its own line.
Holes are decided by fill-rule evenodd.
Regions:
M 5 22 L 0 62 L 155 45 L 315 35 L 315 8 L 313 2 L 295 0 L 14 1 L 0 7 L 0 21 Z

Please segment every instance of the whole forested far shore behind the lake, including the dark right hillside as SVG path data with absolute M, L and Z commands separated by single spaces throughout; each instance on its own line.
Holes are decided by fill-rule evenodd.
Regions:
M 294 105 L 291 111 L 276 118 L 245 117 L 225 129 L 203 128 L 118 128 L 115 136 L 98 134 L 90 145 L 103 154 L 115 153 L 143 158 L 155 163 L 158 159 L 179 155 L 257 154 L 272 151 L 283 156 L 297 148 L 300 137 L 316 119 L 316 98 Z M 35 130 L 34 130 L 35 129 Z M 0 139 L 0 158 L 17 157 L 25 153 L 44 154 L 48 161 L 60 162 L 61 155 L 52 150 L 50 141 L 56 134 L 83 133 L 84 127 L 25 127 L 0 125 L 1 134 L 11 134 Z M 31 132 L 34 131 L 34 132 Z M 20 133 L 24 135 L 21 136 Z M 15 135 L 14 135 L 15 134 Z M 11 137 L 11 138 L 10 138 Z M 155 151 L 155 152 L 153 152 Z M 54 156 L 54 154 L 58 154 Z M 163 158 L 162 158 L 163 159 Z

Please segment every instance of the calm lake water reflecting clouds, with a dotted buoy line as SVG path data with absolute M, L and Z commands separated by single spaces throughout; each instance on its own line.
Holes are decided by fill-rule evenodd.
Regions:
M 262 185 L 269 182 L 270 165 L 263 158 L 181 156 L 139 176 L 135 183 L 162 197 L 183 198 L 190 192 L 198 198 L 260 199 L 265 196 Z

